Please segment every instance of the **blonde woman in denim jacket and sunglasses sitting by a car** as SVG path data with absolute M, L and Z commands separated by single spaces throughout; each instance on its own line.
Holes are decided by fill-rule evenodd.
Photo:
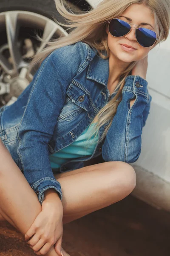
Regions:
M 169 0 L 104 0 L 81 14 L 56 6 L 75 29 L 35 55 L 33 81 L 0 109 L 0 219 L 48 256 L 68 255 L 63 224 L 136 186 L 147 55 L 170 29 Z M 84 166 L 99 155 L 104 163 Z

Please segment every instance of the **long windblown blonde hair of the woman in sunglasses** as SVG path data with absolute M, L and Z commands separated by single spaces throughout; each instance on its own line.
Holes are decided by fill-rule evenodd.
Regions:
M 88 12 L 80 12 L 78 14 L 72 12 L 65 0 L 55 0 L 57 11 L 64 18 L 65 23 L 60 23 L 56 19 L 55 22 L 61 26 L 66 26 L 73 29 L 67 36 L 54 39 L 53 41 L 46 42 L 47 47 L 38 52 L 32 59 L 30 65 L 34 66 L 41 63 L 52 51 L 57 48 L 74 44 L 82 41 L 93 49 L 96 49 L 99 56 L 103 59 L 109 58 L 109 48 L 107 44 L 108 34 L 105 29 L 108 20 L 118 17 L 125 11 L 125 9 L 133 3 L 144 4 L 147 6 L 155 17 L 156 28 L 159 31 L 158 41 L 165 41 L 168 37 L 170 30 L 170 1 L 169 0 L 103 0 L 98 6 L 89 9 Z M 68 11 L 70 10 L 70 12 Z M 37 38 L 44 42 L 39 36 Z M 106 55 L 102 51 L 106 51 Z M 122 100 L 122 88 L 125 85 L 125 79 L 136 65 L 136 61 L 129 64 L 119 77 L 119 90 L 116 95 L 105 105 L 95 116 L 91 125 L 94 124 L 93 133 L 99 130 L 102 125 L 109 122 L 102 134 L 101 140 L 104 140 L 108 129 L 111 126 L 113 117 L 116 114 L 117 107 Z M 119 98 L 119 99 L 118 99 Z M 91 128 L 91 125 L 89 128 Z M 97 135 L 97 133 L 96 133 Z M 95 137 L 96 137 L 95 135 Z M 89 137 L 90 139 L 90 137 Z

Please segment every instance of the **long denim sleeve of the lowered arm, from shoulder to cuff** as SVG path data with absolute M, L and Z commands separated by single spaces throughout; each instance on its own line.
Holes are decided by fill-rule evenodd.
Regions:
M 17 154 L 24 176 L 37 193 L 40 204 L 49 188 L 54 188 L 62 200 L 60 183 L 51 169 L 48 147 L 66 91 L 86 59 L 86 51 L 85 45 L 78 43 L 58 48 L 42 61 L 17 130 Z

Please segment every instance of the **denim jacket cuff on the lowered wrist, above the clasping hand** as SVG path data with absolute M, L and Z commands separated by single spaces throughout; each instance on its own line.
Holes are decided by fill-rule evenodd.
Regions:
M 42 178 L 40 180 L 37 180 L 33 185 L 31 185 L 31 188 L 36 192 L 38 196 L 38 200 L 41 205 L 45 198 L 44 192 L 47 189 L 51 189 L 51 188 L 54 188 L 58 192 L 59 198 L 62 201 L 61 185 L 56 179 L 53 179 L 50 177 Z

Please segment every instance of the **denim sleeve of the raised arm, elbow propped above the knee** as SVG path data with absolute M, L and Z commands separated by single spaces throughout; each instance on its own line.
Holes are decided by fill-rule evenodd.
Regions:
M 130 100 L 135 102 L 130 108 Z M 141 153 L 142 128 L 145 125 L 152 97 L 147 81 L 140 76 L 127 76 L 122 101 L 102 145 L 102 157 L 108 161 L 135 162 Z

